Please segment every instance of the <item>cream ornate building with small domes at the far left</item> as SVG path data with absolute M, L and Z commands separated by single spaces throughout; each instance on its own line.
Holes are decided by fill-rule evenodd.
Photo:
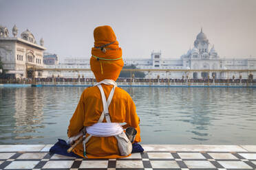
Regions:
M 32 73 L 27 72 L 28 67 L 43 67 L 43 38 L 37 45 L 36 38 L 28 29 L 21 33 L 21 38 L 17 34 L 16 25 L 12 28 L 12 37 L 9 36 L 8 28 L 0 25 L 0 60 L 3 70 L 10 77 L 32 77 Z M 42 77 L 43 73 L 36 71 L 35 76 Z

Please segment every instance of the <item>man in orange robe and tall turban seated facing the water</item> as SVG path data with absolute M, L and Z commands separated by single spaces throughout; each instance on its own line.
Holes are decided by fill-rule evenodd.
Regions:
M 111 89 L 114 88 L 114 95 L 108 107 L 112 124 L 105 127 L 107 122 L 109 122 L 106 120 L 106 117 L 103 119 L 105 125 L 98 123 L 103 112 L 103 97 L 98 86 L 89 87 L 83 91 L 76 111 L 72 119 L 70 119 L 67 136 L 76 136 L 83 127 L 86 127 L 86 138 L 88 138 L 97 128 L 105 127 L 105 129 L 99 130 L 98 135 L 91 135 L 92 137 L 87 141 L 85 145 L 87 158 L 127 157 L 120 156 L 118 142 L 115 136 L 104 136 L 104 132 L 114 134 L 117 131 L 120 133 L 120 130 L 122 132 L 122 128 L 135 127 L 137 134 L 134 143 L 141 141 L 140 119 L 136 114 L 134 101 L 125 90 L 116 87 L 115 81 L 118 79 L 122 66 L 124 65 L 122 61 L 122 49 L 118 47 L 116 35 L 109 26 L 96 27 L 94 29 L 94 40 L 90 65 L 98 82 L 97 85 L 100 84 L 102 86 L 106 99 L 108 99 Z M 119 123 L 127 124 L 121 127 Z M 91 127 L 95 128 L 91 130 Z M 109 132 L 109 130 L 113 132 Z M 83 143 L 76 145 L 72 151 L 78 156 L 85 157 Z

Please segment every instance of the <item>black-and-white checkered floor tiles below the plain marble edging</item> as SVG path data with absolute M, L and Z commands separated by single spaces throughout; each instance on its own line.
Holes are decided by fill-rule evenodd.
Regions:
M 0 169 L 256 169 L 256 152 L 145 151 L 120 159 L 82 159 L 47 151 L 0 152 Z

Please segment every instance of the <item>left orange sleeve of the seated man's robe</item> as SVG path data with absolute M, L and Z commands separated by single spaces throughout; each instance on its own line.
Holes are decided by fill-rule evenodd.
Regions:
M 83 122 L 85 121 L 85 103 L 84 103 L 84 94 L 83 91 L 78 105 L 76 107 L 76 111 L 74 112 L 72 118 L 70 119 L 70 125 L 68 126 L 67 136 L 70 138 L 80 132 L 83 128 Z

